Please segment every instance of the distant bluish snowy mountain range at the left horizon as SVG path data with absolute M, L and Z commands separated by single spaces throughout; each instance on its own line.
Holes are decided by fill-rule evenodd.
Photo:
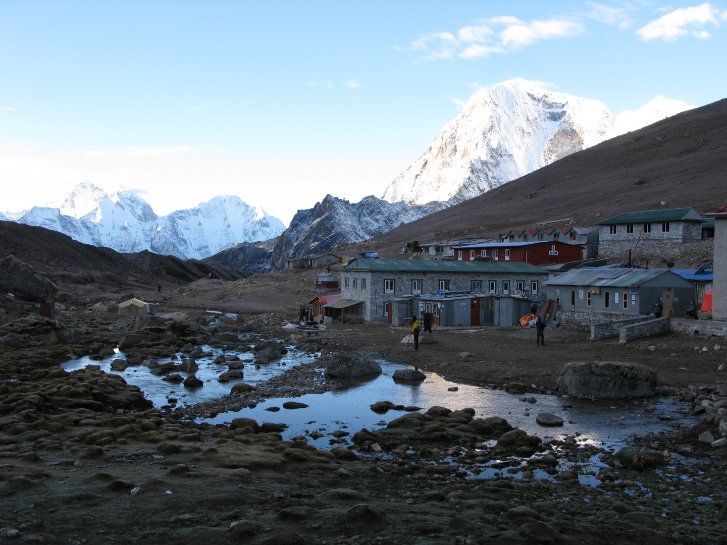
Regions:
M 6 218 L 60 231 L 94 246 L 121 252 L 149 250 L 181 259 L 203 259 L 241 242 L 275 238 L 286 229 L 278 218 L 235 195 L 158 216 L 136 193 L 108 195 L 90 182 L 76 185 L 60 207 L 33 206 L 0 214 L 0 219 Z

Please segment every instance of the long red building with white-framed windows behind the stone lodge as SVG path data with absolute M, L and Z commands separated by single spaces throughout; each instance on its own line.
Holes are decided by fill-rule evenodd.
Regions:
M 473 244 L 454 248 L 455 261 L 474 261 L 487 257 L 489 261 L 523 262 L 531 265 L 550 265 L 580 261 L 583 246 L 558 241 Z

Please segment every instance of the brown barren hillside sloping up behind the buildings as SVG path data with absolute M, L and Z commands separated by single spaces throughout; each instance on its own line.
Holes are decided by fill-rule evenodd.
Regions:
M 622 212 L 682 206 L 704 212 L 724 203 L 727 99 L 574 153 L 357 249 L 395 257 L 404 241 L 479 238 L 563 218 L 587 227 Z

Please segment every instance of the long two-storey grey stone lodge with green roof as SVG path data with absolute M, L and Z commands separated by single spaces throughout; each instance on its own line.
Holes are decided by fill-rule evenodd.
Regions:
M 433 259 L 351 259 L 340 270 L 341 298 L 348 315 L 387 321 L 387 303 L 402 296 L 481 290 L 486 295 L 516 291 L 543 299 L 548 273 L 529 263 L 438 261 Z

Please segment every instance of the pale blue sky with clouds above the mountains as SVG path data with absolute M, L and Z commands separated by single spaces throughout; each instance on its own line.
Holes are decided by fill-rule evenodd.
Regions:
M 384 187 L 477 86 L 727 95 L 727 1 L 2 1 L 0 210 L 83 179 L 288 222 Z

